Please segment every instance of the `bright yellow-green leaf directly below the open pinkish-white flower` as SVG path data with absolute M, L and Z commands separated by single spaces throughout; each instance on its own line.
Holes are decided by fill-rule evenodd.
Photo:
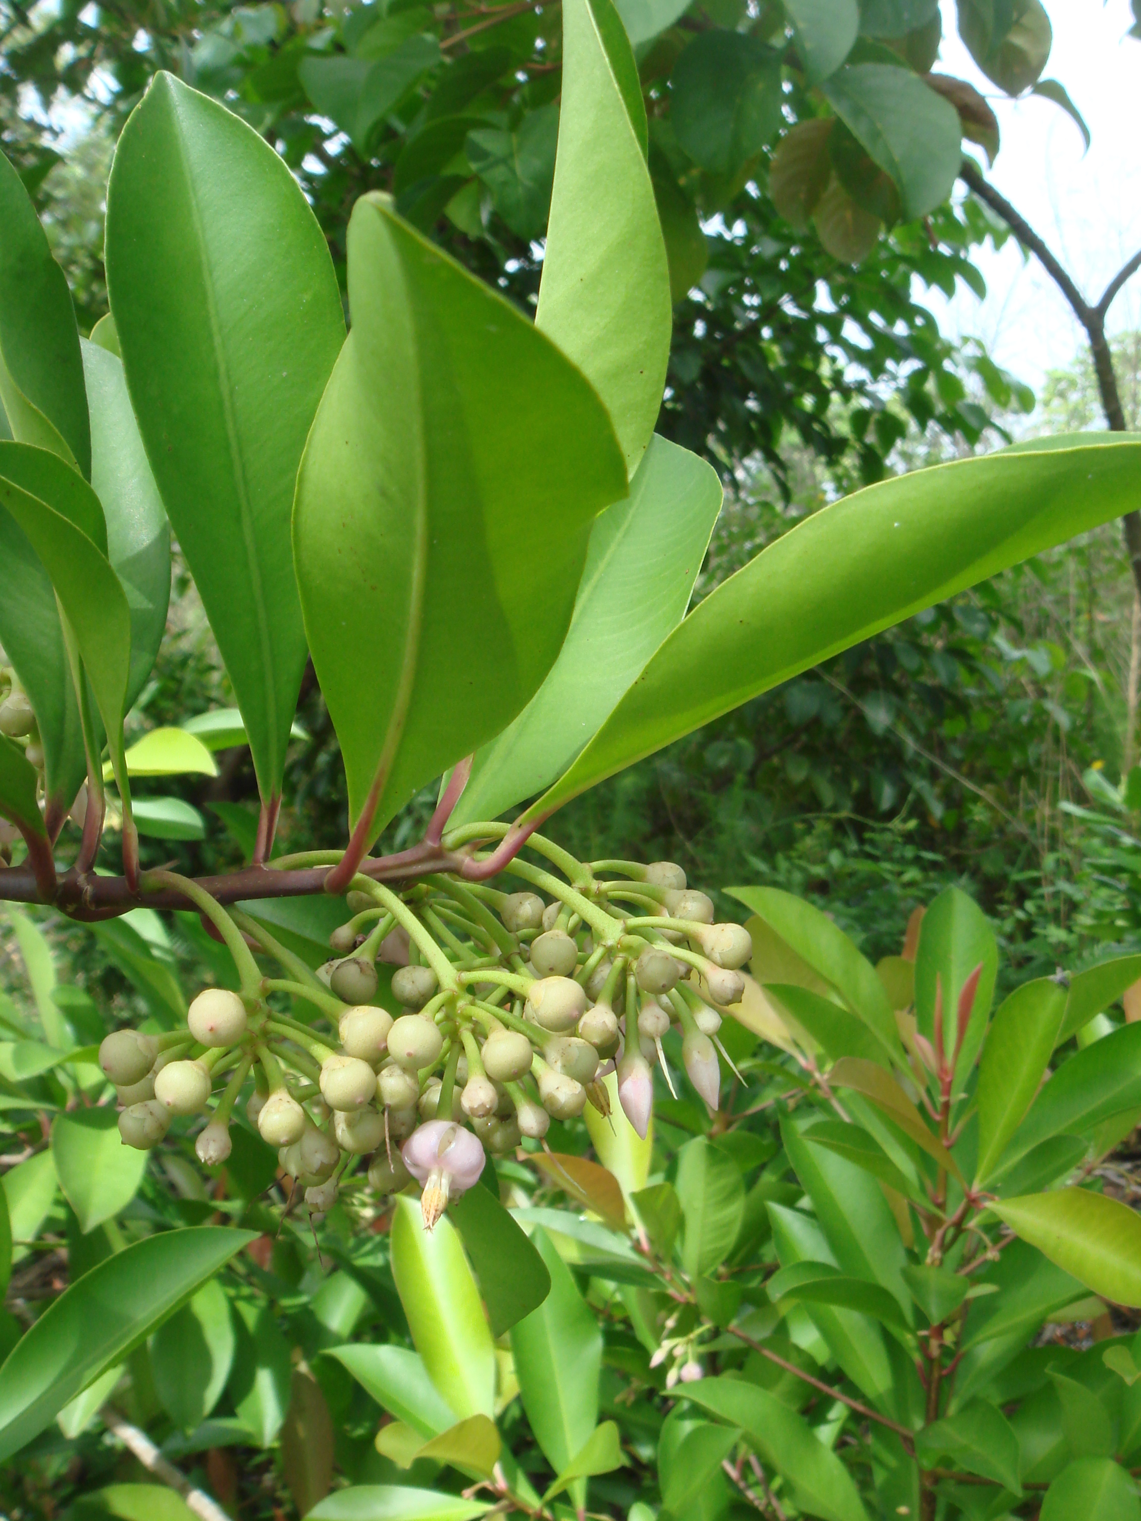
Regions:
M 391 1241 L 393 1278 L 429 1378 L 461 1419 L 493 1416 L 494 1346 L 455 1227 L 444 1215 L 424 1230 L 420 1202 L 402 1194 Z

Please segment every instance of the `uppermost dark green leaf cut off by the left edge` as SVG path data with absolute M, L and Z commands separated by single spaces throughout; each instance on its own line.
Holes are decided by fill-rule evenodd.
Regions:
M 72 292 L 20 175 L 0 154 L 0 402 L 12 437 L 91 475 Z

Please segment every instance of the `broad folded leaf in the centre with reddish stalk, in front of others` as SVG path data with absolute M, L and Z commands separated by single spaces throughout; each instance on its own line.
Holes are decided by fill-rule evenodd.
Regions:
M 371 843 L 532 697 L 625 470 L 581 374 L 383 198 L 353 211 L 348 294 L 294 557 L 350 815 Z

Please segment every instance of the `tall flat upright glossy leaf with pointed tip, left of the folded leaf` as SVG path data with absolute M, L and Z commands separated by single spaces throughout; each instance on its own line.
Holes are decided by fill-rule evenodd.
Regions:
M 268 799 L 306 662 L 294 482 L 344 341 L 329 248 L 272 148 L 160 73 L 119 138 L 106 277 L 146 455 Z

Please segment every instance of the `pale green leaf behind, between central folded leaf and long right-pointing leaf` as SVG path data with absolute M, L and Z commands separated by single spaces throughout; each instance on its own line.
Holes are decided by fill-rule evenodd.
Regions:
M 595 520 L 558 659 L 476 753 L 453 824 L 496 818 L 570 765 L 685 616 L 720 510 L 717 472 L 654 435 L 628 500 Z

